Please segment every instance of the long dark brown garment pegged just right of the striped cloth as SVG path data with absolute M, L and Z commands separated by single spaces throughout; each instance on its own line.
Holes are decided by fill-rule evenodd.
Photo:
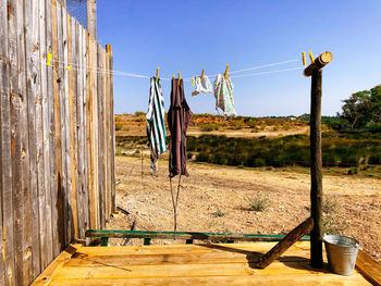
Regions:
M 179 85 L 179 80 L 180 85 Z M 192 119 L 192 111 L 185 100 L 183 80 L 172 78 L 171 107 L 168 111 L 170 140 L 170 177 L 186 175 L 186 129 Z

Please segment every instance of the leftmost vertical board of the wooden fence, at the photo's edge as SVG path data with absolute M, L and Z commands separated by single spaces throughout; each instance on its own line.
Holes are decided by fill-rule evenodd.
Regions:
M 14 5 L 13 5 L 14 7 Z M 10 10 L 8 9 L 10 8 Z M 14 87 L 12 87 L 12 74 L 16 70 L 15 61 L 15 37 L 14 32 L 15 11 L 7 0 L 0 1 L 0 153 L 1 153 L 1 203 L 2 203 L 2 261 L 3 284 L 15 285 L 14 276 L 14 236 L 13 236 L 13 184 L 12 184 L 12 141 L 14 136 L 11 135 L 11 101 Z M 13 25 L 12 25 L 13 23 Z M 11 137 L 12 136 L 12 137 Z M 1 271 L 0 270 L 0 271 Z M 2 281 L 1 281 L 2 282 Z

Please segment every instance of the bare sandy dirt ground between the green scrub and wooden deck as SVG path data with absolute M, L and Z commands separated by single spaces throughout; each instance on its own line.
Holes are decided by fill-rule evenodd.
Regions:
M 188 163 L 189 177 L 182 177 L 177 231 L 246 234 L 286 234 L 309 215 L 309 175 L 293 169 L 237 169 Z M 168 161 L 150 174 L 149 159 L 116 157 L 116 204 L 119 213 L 109 229 L 172 231 L 173 211 Z M 177 177 L 173 186 L 177 185 Z M 327 229 L 355 237 L 381 261 L 381 182 L 377 178 L 324 175 Z M 253 211 L 258 198 L 263 211 Z M 121 243 L 114 239 L 113 244 Z M 172 244 L 173 241 L 153 241 Z M 184 241 L 176 241 L 184 243 Z M 142 244 L 131 241 L 130 244 Z

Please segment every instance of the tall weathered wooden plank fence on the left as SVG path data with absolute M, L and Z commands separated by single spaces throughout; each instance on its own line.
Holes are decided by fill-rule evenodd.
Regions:
M 28 285 L 114 211 L 108 70 L 111 47 L 59 1 L 0 0 L 0 285 Z

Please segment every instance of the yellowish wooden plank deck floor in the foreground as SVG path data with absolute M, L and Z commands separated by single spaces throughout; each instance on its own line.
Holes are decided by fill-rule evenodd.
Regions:
M 307 241 L 295 244 L 267 269 L 253 269 L 274 245 L 70 246 L 33 285 L 371 285 L 357 271 L 341 276 L 327 264 L 324 270 L 312 269 Z M 381 266 L 370 257 L 361 251 L 357 263 L 380 283 Z

